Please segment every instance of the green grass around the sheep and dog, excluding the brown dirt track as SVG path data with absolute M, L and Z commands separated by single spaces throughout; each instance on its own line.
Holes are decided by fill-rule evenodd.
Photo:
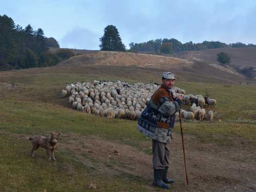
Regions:
M 43 150 L 38 151 L 40 158 L 31 160 L 28 156 L 30 143 L 13 135 L 47 135 L 49 131 L 94 135 L 143 151 L 140 143 L 150 141 L 137 132 L 135 121 L 106 119 L 74 111 L 66 103 L 67 99 L 60 97 L 60 92 L 66 82 L 94 79 L 146 82 L 148 78 L 145 77 L 150 73 L 150 81 L 159 82 L 160 72 L 142 70 L 139 76 L 129 74 L 129 71 L 93 73 L 93 69 L 88 68 L 83 72 L 68 73 L 60 69 L 1 72 L 0 82 L 14 81 L 17 86 L 6 89 L 7 84 L 0 83 L 0 172 L 4 173 L 0 174 L 0 191 L 82 191 L 87 190 L 90 182 L 97 183 L 97 191 L 147 191 L 143 180 L 133 175 L 106 178 L 99 174 L 92 177 L 90 167 L 78 162 L 70 151 L 58 151 L 56 163 L 47 162 Z M 214 122 L 184 123 L 185 134 L 195 134 L 198 142 L 229 146 L 233 139 L 240 139 L 250 147 L 256 147 L 255 87 L 199 82 L 177 82 L 177 86 L 191 94 L 204 95 L 207 89 L 210 97 L 218 102 Z M 177 123 L 176 132 L 178 126 Z M 72 173 L 69 173 L 70 169 Z

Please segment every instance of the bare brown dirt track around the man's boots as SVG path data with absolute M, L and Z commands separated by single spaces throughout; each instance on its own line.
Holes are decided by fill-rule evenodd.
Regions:
M 26 135 L 17 135 L 27 139 Z M 176 181 L 172 191 L 256 191 L 255 148 L 248 148 L 234 141 L 230 146 L 198 143 L 193 136 L 185 136 L 185 150 L 188 163 L 189 186 L 185 185 L 184 160 L 179 134 L 174 133 L 169 144 L 169 176 Z M 141 143 L 151 147 L 151 142 Z M 243 150 L 246 147 L 246 151 Z M 109 141 L 95 136 L 63 134 L 58 150 L 68 150 L 88 167 L 91 175 L 113 176 L 123 174 L 138 177 L 148 190 L 152 186 L 152 156 L 130 145 Z M 124 178 L 124 180 L 129 178 Z

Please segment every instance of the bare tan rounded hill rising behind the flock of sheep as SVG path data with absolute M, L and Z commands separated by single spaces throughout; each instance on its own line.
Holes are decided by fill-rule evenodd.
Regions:
M 126 52 L 93 52 L 74 56 L 59 63 L 58 67 L 71 67 L 86 71 L 89 66 L 104 66 L 108 68 L 125 67 L 123 70 L 136 71 L 136 68 L 143 68 L 146 71 L 172 71 L 182 81 L 197 82 L 220 82 L 239 83 L 245 82 L 244 76 L 238 74 L 232 68 L 224 68 L 220 65 L 210 65 L 205 62 L 181 59 L 177 57 L 167 57 L 149 54 L 136 54 Z M 76 69 L 75 68 L 75 69 Z M 98 67 L 102 68 L 102 67 Z M 104 71 L 104 70 L 103 70 Z M 116 74 L 121 71 L 116 71 Z

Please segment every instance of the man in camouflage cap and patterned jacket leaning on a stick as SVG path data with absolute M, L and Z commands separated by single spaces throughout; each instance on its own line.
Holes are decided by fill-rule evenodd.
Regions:
M 173 73 L 164 72 L 162 74 L 162 84 L 153 94 L 150 102 L 142 112 L 137 129 L 147 137 L 152 139 L 153 150 L 153 184 L 170 188 L 166 183 L 173 183 L 172 179 L 167 178 L 169 167 L 169 148 L 172 138 L 172 129 L 175 123 L 175 113 L 182 105 L 182 97 L 173 98 L 170 91 L 175 83 Z

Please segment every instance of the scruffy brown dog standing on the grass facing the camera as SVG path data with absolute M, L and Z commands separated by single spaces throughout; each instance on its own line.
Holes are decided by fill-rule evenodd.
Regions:
M 54 156 L 54 151 L 59 138 L 60 138 L 60 133 L 53 134 L 52 132 L 50 134 L 50 137 L 44 137 L 41 135 L 35 135 L 33 137 L 30 137 L 29 140 L 32 142 L 32 150 L 31 150 L 32 158 L 34 157 L 34 151 L 37 150 L 37 148 L 44 147 L 46 148 L 49 161 L 51 160 L 56 161 L 56 158 Z

